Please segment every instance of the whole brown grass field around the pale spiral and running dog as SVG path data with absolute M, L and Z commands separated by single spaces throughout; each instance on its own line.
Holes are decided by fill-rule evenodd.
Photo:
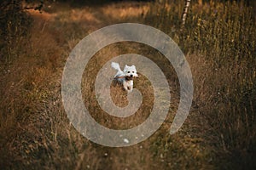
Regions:
M 0 10 L 1 169 L 256 168 L 253 3 L 192 1 L 182 26 L 183 1 L 83 5 L 46 1 L 42 13 L 6 2 Z M 152 86 L 141 77 L 135 87 L 143 94 L 143 104 L 136 114 L 120 119 L 102 111 L 94 82 L 113 56 L 133 53 L 154 60 L 162 66 L 172 95 L 165 122 L 149 139 L 111 148 L 90 142 L 69 123 L 61 102 L 61 77 L 69 53 L 81 39 L 123 22 L 154 26 L 172 37 L 189 62 L 195 94 L 183 127 L 170 135 L 179 102 L 172 65 L 154 48 L 137 42 L 102 48 L 90 59 L 82 81 L 84 105 L 97 122 L 116 129 L 136 127 L 147 119 L 154 103 Z M 116 105 L 127 105 L 120 87 L 112 86 L 111 96 Z

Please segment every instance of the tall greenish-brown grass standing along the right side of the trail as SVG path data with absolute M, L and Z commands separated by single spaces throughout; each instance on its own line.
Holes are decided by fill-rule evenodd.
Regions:
M 242 1 L 192 2 L 181 29 L 182 9 L 182 3 L 156 3 L 146 23 L 169 33 L 196 67 L 195 102 L 207 118 L 206 135 L 215 138 L 217 161 L 225 167 L 255 167 L 255 9 Z M 203 62 L 195 65 L 198 59 L 191 58 Z

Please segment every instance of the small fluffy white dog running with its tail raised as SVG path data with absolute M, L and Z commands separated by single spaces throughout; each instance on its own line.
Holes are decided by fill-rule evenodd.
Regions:
M 131 92 L 133 88 L 133 78 L 138 77 L 136 67 L 134 65 L 125 65 L 124 71 L 121 71 L 118 63 L 111 63 L 111 66 L 118 72 L 115 74 L 114 78 L 123 84 L 123 87 L 127 92 Z

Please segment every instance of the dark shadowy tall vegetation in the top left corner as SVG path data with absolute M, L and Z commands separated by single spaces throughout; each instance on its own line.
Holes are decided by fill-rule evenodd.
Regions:
M 0 59 L 10 61 L 19 55 L 20 42 L 26 37 L 32 20 L 22 10 L 20 1 L 1 1 L 0 10 Z

